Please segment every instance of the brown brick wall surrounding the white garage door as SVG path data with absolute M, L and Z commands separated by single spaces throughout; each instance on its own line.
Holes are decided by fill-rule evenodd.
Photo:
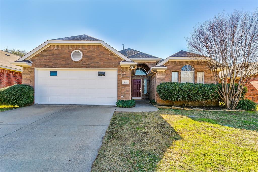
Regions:
M 80 50 L 83 58 L 79 62 L 71 59 L 73 50 Z M 130 68 L 121 67 L 121 58 L 102 45 L 50 45 L 30 59 L 31 67 L 23 67 L 23 84 L 34 87 L 34 68 L 117 68 L 118 99 L 130 99 L 130 83 L 122 84 L 122 80 L 130 82 Z M 123 96 L 123 98 L 121 98 Z

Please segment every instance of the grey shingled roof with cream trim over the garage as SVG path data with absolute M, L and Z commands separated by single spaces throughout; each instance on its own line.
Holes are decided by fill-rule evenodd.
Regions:
M 99 40 L 99 39 L 94 38 L 94 37 L 91 37 L 91 36 L 88 36 L 88 35 L 77 35 L 77 36 L 70 36 L 70 37 L 64 37 L 64 38 L 57 38 L 57 39 L 53 39 L 53 40 L 47 40 L 43 44 L 39 45 L 35 49 L 33 49 L 30 52 L 28 52 L 27 54 L 25 54 L 23 57 L 21 57 L 17 61 L 19 61 L 19 62 L 23 61 L 24 62 L 24 60 L 29 60 L 30 58 L 35 56 L 37 53 L 39 53 L 42 50 L 49 47 L 50 45 L 62 45 L 62 44 L 66 44 L 66 45 L 67 44 L 69 44 L 69 45 L 70 44 L 71 45 L 77 45 L 77 44 L 80 44 L 80 45 L 90 45 L 90 44 L 102 45 L 103 47 L 105 47 L 106 49 L 111 51 L 112 53 L 116 54 L 122 60 L 132 62 L 132 60 L 130 60 L 129 58 L 124 56 L 122 53 L 118 52 L 116 49 L 114 49 L 113 47 L 111 47 L 110 45 L 105 43 L 104 41 Z M 16 63 L 13 63 L 13 64 L 16 64 Z

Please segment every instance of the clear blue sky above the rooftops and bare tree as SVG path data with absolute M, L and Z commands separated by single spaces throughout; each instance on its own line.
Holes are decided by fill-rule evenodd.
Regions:
M 26 50 L 46 40 L 90 35 L 116 50 L 160 58 L 186 50 L 192 27 L 215 14 L 251 11 L 258 1 L 2 1 L 0 49 Z

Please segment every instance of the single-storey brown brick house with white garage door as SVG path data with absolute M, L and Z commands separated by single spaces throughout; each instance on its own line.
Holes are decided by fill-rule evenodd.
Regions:
M 192 56 L 200 55 L 180 51 L 164 60 L 78 35 L 48 40 L 11 64 L 22 66 L 22 83 L 34 87 L 37 104 L 114 105 L 118 99 L 171 104 L 158 97 L 156 85 L 215 82 Z

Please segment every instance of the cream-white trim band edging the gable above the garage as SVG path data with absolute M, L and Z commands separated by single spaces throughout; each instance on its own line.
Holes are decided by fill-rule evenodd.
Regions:
M 70 44 L 70 45 L 102 45 L 103 47 L 105 47 L 106 49 L 108 49 L 109 51 L 111 51 L 112 53 L 116 54 L 118 57 L 120 57 L 123 60 L 126 61 L 132 61 L 129 58 L 125 57 L 123 54 L 121 54 L 120 52 L 118 52 L 116 49 L 114 49 L 113 47 L 111 47 L 110 45 L 108 45 L 107 43 L 105 43 L 104 41 L 61 41 L 61 40 L 48 40 L 46 42 L 44 42 L 43 44 L 39 45 L 37 48 L 35 48 L 34 50 L 28 52 L 27 54 L 25 54 L 25 56 L 21 57 L 20 59 L 18 59 L 17 61 L 22 61 L 22 60 L 29 60 L 30 58 L 32 58 L 34 55 L 36 55 L 37 53 L 41 52 L 42 50 L 46 49 L 47 47 L 49 47 L 50 45 L 64 45 L 64 44 Z

